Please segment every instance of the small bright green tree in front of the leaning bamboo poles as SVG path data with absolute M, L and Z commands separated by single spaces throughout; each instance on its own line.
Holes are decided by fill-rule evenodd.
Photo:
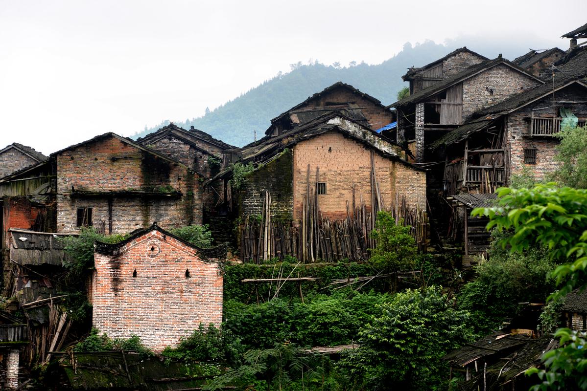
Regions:
M 376 240 L 375 249 L 370 249 L 369 263 L 376 270 L 397 273 L 411 270 L 416 264 L 416 240 L 410 235 L 410 227 L 396 224 L 391 213 L 378 212 L 375 230 L 371 237 Z M 397 275 L 390 280 L 392 290 L 397 289 Z

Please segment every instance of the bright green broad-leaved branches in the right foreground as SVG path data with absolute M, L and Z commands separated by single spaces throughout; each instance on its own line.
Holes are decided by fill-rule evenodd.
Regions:
M 512 251 L 531 246 L 546 246 L 553 259 L 571 262 L 558 266 L 551 274 L 561 290 L 551 295 L 555 300 L 583 285 L 587 267 L 587 190 L 560 188 L 554 183 L 532 189 L 498 189 L 498 205 L 478 208 L 473 215 L 488 216 L 488 227 L 512 230 L 504 240 Z M 587 389 L 587 352 L 585 332 L 567 328 L 556 330 L 561 347 L 546 352 L 542 361 L 546 369 L 532 368 L 540 382 L 532 390 Z

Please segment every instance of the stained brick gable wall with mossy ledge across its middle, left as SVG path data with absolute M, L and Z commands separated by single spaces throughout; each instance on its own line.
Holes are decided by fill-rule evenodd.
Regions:
M 202 222 L 201 181 L 188 169 L 110 137 L 62 152 L 57 157 L 57 232 L 77 233 L 76 208 L 89 206 L 93 223 L 112 219 L 112 233 L 127 233 L 157 221 L 173 228 Z M 109 192 L 181 192 L 180 198 L 120 197 Z M 72 198 L 75 191 L 101 192 L 93 198 Z M 112 197 L 112 216 L 107 199 Z

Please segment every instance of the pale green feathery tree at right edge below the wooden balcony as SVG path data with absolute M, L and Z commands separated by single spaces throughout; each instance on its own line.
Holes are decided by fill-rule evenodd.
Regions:
M 555 159 L 561 166 L 554 174 L 554 180 L 563 186 L 587 188 L 587 132 L 585 128 L 566 125 L 557 134 L 561 144 L 556 148 Z

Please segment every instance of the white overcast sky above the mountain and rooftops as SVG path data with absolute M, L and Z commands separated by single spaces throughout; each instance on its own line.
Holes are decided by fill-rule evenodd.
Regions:
M 376 64 L 405 42 L 566 50 L 558 37 L 585 22 L 585 0 L 0 0 L 0 148 L 128 136 L 202 115 L 291 63 Z

